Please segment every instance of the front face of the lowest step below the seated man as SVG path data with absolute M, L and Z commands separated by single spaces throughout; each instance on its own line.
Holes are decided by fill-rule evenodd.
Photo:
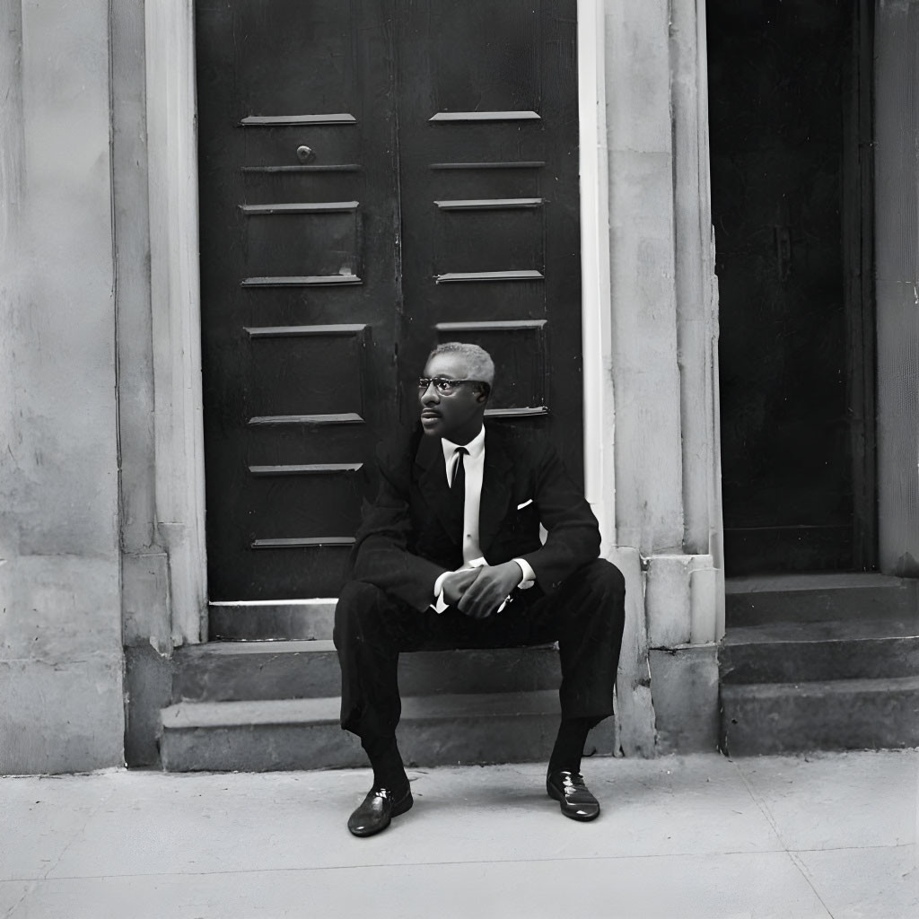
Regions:
M 558 715 L 413 721 L 399 727 L 406 766 L 456 766 L 548 760 Z M 612 731 L 612 719 L 599 730 Z M 593 735 L 592 735 L 593 739 Z M 604 738 L 612 751 L 612 740 Z M 167 730 L 161 742 L 168 772 L 287 771 L 367 766 L 357 738 L 337 724 Z

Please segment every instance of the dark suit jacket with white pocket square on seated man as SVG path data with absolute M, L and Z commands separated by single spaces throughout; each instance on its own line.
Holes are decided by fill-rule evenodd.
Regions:
M 448 500 L 440 438 L 418 425 L 401 439 L 380 451 L 376 500 L 365 505 L 350 575 L 423 610 L 437 577 L 462 566 L 462 520 Z M 596 517 L 545 437 L 486 423 L 479 544 L 489 564 L 526 559 L 546 593 L 596 559 Z

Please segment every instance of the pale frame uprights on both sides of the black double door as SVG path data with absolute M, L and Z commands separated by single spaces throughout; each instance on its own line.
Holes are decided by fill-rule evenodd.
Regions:
M 578 0 L 584 492 L 616 545 L 605 6 Z M 154 476 L 172 634 L 207 640 L 194 0 L 144 5 Z

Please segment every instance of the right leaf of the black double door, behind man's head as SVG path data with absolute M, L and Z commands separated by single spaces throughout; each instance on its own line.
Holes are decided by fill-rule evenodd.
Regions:
M 420 0 L 398 68 L 403 366 L 432 340 L 481 344 L 497 369 L 491 414 L 547 427 L 580 478 L 575 14 L 567 0 Z

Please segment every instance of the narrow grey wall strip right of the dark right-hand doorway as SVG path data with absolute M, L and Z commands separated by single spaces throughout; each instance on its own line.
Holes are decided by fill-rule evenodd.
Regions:
M 878 516 L 881 570 L 919 576 L 919 2 L 875 25 Z

